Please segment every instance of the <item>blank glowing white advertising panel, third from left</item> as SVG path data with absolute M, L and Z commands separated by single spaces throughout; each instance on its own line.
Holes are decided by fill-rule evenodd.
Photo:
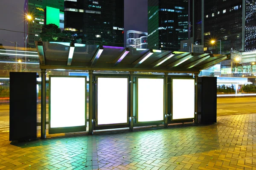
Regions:
M 163 79 L 138 78 L 138 122 L 163 120 Z

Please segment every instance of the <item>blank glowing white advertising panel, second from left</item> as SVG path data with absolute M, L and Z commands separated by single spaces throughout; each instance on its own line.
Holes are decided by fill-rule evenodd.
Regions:
M 97 124 L 128 123 L 128 78 L 98 77 Z

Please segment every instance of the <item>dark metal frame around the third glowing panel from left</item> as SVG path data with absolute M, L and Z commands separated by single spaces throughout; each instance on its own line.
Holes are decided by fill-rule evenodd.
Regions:
M 139 122 L 139 111 L 138 111 L 138 106 L 139 106 L 139 84 L 138 84 L 138 79 L 163 79 L 163 120 L 156 120 L 156 121 L 146 121 L 146 122 Z M 164 113 L 164 95 L 165 95 L 165 89 L 164 89 L 164 84 L 165 84 L 165 80 L 164 80 L 164 76 L 163 75 L 134 75 L 134 80 L 136 81 L 136 91 L 134 94 L 134 108 L 135 108 L 135 115 L 136 115 L 136 119 L 134 119 L 134 126 L 146 126 L 146 125 L 162 125 L 164 123 L 164 119 L 165 119 L 165 113 Z

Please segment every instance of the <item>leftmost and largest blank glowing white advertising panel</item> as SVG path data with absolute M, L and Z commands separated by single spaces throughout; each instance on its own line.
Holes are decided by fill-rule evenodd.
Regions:
M 50 128 L 85 126 L 86 77 L 50 77 Z

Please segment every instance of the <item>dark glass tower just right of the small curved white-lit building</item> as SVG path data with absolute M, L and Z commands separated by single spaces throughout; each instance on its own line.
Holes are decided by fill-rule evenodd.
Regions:
M 148 0 L 148 48 L 180 50 L 189 38 L 188 0 Z

